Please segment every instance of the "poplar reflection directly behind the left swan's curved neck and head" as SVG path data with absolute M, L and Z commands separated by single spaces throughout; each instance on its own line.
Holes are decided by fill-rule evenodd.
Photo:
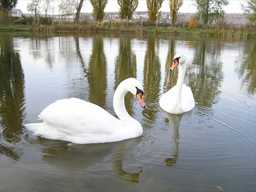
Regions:
M 132 51 L 131 47 L 131 36 L 129 34 L 120 34 L 119 41 L 119 54 L 115 60 L 115 88 L 121 81 L 126 78 L 134 77 L 137 78 L 137 62 L 136 55 Z M 132 100 L 135 99 L 130 93 L 125 96 L 125 106 L 127 112 L 133 116 L 134 111 L 132 110 Z

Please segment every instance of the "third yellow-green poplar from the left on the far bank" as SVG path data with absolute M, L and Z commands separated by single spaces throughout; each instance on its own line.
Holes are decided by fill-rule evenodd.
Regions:
M 162 7 L 162 4 L 163 0 L 146 0 L 147 14 L 151 22 L 155 22 L 157 18 L 161 17 L 161 11 L 158 11 Z

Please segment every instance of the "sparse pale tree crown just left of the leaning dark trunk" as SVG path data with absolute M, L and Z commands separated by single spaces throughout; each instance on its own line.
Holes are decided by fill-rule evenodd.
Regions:
M 61 0 L 58 5 L 61 15 L 72 14 L 79 7 L 80 0 Z

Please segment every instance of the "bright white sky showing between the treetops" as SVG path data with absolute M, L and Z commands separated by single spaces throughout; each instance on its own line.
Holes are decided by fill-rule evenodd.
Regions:
M 44 0 L 42 0 L 44 1 Z M 68 1 L 68 0 L 67 0 Z M 15 9 L 20 9 L 23 13 L 29 13 L 27 10 L 27 5 L 32 1 L 29 0 L 18 0 L 18 3 Z M 54 14 L 59 14 L 58 11 L 58 4 L 60 1 L 54 0 L 55 4 L 55 11 Z M 240 0 L 229 0 L 229 5 L 224 8 L 226 13 L 243 13 L 240 4 L 244 3 L 245 1 Z M 169 12 L 169 0 L 164 0 L 161 11 L 162 12 Z M 104 11 L 105 12 L 119 12 L 119 5 L 117 4 L 117 0 L 109 0 L 108 4 L 106 5 Z M 138 8 L 135 11 L 147 11 L 146 7 L 146 0 L 139 0 Z M 84 0 L 83 7 L 81 10 L 82 13 L 90 13 L 92 12 L 92 5 L 89 0 Z M 181 13 L 195 13 L 196 7 L 192 5 L 191 0 L 183 0 L 183 5 L 179 9 Z

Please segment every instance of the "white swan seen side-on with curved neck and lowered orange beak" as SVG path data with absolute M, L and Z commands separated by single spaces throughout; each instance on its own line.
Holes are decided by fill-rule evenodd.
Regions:
M 145 108 L 143 88 L 135 78 L 123 80 L 117 87 L 112 116 L 100 106 L 78 99 L 60 99 L 47 106 L 40 115 L 42 123 L 26 124 L 28 130 L 46 139 L 72 143 L 105 143 L 121 141 L 142 135 L 141 124 L 126 111 L 124 96 L 130 91 Z

